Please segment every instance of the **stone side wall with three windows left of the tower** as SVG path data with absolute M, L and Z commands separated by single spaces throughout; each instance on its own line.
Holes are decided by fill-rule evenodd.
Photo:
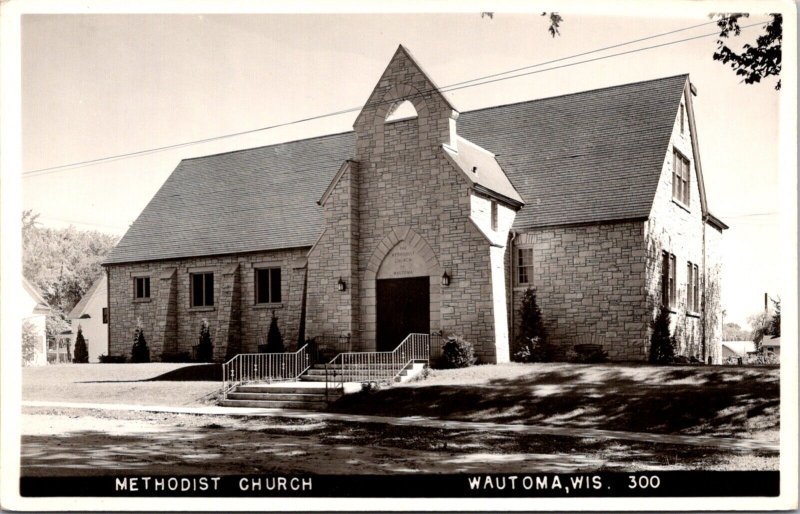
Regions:
M 266 340 L 273 311 L 286 347 L 294 348 L 307 252 L 307 248 L 299 248 L 107 266 L 109 354 L 130 359 L 137 318 L 142 321 L 153 360 L 159 360 L 165 348 L 191 353 L 203 318 L 210 325 L 216 360 L 225 357 L 228 344 L 238 345 L 242 352 L 255 352 L 259 337 Z M 280 303 L 255 303 L 255 270 L 261 267 L 281 268 Z M 214 273 L 214 306 L 190 306 L 193 272 Z M 151 298 L 134 299 L 136 276 L 151 277 Z

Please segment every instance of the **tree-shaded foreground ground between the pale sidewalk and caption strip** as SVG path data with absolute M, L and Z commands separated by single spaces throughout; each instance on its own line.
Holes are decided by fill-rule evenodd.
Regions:
M 23 436 L 22 474 L 566 473 L 704 468 L 731 455 L 708 448 L 357 423 L 195 417 L 184 426 L 177 417 L 156 420 L 155 415 L 146 423 L 120 421 L 126 428 L 115 433 Z

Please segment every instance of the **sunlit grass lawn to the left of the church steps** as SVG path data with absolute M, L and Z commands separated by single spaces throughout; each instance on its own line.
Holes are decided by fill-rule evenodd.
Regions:
M 213 404 L 221 389 L 208 364 L 58 364 L 22 369 L 22 399 L 191 406 Z

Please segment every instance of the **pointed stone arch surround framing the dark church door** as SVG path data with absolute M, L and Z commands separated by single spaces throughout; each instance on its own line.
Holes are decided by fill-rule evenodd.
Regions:
M 395 266 L 389 271 L 400 271 L 399 274 L 387 273 L 386 268 L 381 272 L 381 267 L 386 264 L 386 258 L 397 256 L 397 250 L 402 250 L 402 258 L 408 258 L 410 266 L 406 269 Z M 392 251 L 395 250 L 393 254 Z M 430 327 L 431 330 L 441 328 L 441 275 L 442 268 L 436 254 L 428 242 L 410 227 L 396 227 L 390 230 L 383 240 L 378 243 L 372 253 L 364 274 L 364 297 L 361 302 L 361 319 L 363 321 L 362 337 L 366 350 L 375 348 L 375 334 L 377 331 L 377 303 L 376 283 L 381 278 L 397 278 L 409 276 L 427 276 L 430 284 Z

